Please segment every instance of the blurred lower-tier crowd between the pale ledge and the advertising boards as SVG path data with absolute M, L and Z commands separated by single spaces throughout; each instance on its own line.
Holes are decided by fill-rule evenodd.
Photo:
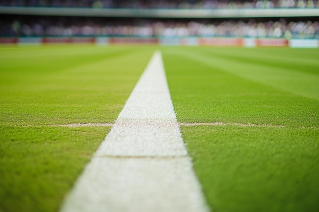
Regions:
M 318 21 L 45 20 L 0 24 L 0 36 L 143 36 L 319 39 Z

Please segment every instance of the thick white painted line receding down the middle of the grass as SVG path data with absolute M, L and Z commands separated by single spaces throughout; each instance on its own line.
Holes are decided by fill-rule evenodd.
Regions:
M 62 211 L 209 211 L 181 138 L 161 52 L 154 53 Z

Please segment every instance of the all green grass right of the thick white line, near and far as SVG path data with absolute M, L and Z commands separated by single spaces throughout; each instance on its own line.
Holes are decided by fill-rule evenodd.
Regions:
M 212 211 L 319 211 L 319 51 L 163 52 L 179 122 L 244 124 L 181 127 Z

